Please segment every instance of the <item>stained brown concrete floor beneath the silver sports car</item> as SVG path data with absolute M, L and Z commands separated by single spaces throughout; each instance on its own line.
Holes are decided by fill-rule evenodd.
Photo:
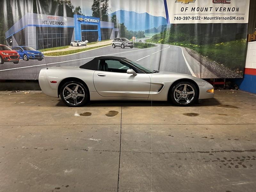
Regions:
M 230 90 L 193 107 L 81 108 L 0 92 L 0 191 L 255 191 L 255 105 L 256 95 Z

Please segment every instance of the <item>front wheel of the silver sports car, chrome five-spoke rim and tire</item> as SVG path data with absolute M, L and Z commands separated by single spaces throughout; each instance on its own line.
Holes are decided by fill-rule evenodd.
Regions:
M 184 91 L 185 85 L 186 91 Z M 186 107 L 196 102 L 198 99 L 198 90 L 194 83 L 188 81 L 178 82 L 172 87 L 171 92 L 169 92 L 169 98 L 174 105 Z

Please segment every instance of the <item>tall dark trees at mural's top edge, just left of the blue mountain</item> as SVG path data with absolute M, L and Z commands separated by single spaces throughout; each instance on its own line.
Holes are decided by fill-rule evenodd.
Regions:
M 108 0 L 93 0 L 92 16 L 100 18 L 101 21 L 108 21 Z

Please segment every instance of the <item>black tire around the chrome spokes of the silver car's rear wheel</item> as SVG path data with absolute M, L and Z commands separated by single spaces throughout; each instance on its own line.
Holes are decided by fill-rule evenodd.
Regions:
M 73 90 L 73 88 L 76 87 L 76 85 L 80 86 L 80 88 L 78 88 L 78 92 L 74 92 L 75 89 Z M 68 86 L 68 88 L 72 90 L 72 93 L 70 93 L 66 89 L 66 86 Z M 84 98 L 79 97 L 79 96 L 75 96 L 75 94 L 77 95 L 77 93 L 78 94 L 83 94 L 84 93 Z M 68 99 L 64 99 L 64 97 L 66 95 L 67 96 L 72 95 L 72 97 L 70 97 Z M 77 104 L 75 104 L 74 97 L 76 97 Z M 63 84 L 61 86 L 61 88 L 60 88 L 60 98 L 69 107 L 81 107 L 81 106 L 83 106 L 83 105 L 85 105 L 86 103 L 89 102 L 89 100 L 90 100 L 90 92 L 89 92 L 88 88 L 84 84 L 82 84 L 82 83 L 80 83 L 78 81 L 69 81 L 69 82 L 67 82 L 67 83 L 65 83 L 65 84 Z

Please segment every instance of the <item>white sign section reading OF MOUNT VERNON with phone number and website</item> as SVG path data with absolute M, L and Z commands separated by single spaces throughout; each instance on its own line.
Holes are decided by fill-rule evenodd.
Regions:
M 250 0 L 164 0 L 168 23 L 248 23 Z

